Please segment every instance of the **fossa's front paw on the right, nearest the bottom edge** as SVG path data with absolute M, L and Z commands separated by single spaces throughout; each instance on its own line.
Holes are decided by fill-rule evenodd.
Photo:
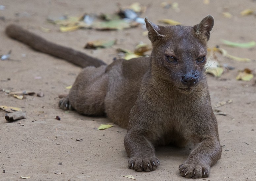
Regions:
M 204 164 L 181 164 L 179 166 L 179 173 L 186 178 L 202 178 L 210 175 L 210 167 Z

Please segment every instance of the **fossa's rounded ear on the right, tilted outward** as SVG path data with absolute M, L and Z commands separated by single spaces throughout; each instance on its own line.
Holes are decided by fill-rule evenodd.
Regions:
M 208 41 L 210 38 L 210 31 L 212 30 L 213 25 L 213 17 L 211 15 L 207 15 L 206 17 L 204 17 L 204 19 L 202 19 L 199 24 L 195 25 L 193 28 L 199 36 L 202 36 L 202 38 Z

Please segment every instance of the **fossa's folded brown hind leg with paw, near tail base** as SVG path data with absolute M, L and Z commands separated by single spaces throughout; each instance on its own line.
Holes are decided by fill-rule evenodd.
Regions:
M 64 110 L 76 109 L 85 115 L 104 115 L 104 99 L 108 84 L 105 69 L 106 66 L 83 69 L 72 85 L 69 95 L 59 101 L 59 107 Z

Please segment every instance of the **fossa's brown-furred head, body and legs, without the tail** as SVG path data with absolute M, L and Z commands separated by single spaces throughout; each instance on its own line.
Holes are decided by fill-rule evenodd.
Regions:
M 197 146 L 179 172 L 186 178 L 208 177 L 221 146 L 204 76 L 206 62 L 199 57 L 207 54 L 213 17 L 194 27 L 145 22 L 153 46 L 150 58 L 86 67 L 59 106 L 85 115 L 106 114 L 127 128 L 128 166 L 136 171 L 159 166 L 155 146 L 192 142 Z

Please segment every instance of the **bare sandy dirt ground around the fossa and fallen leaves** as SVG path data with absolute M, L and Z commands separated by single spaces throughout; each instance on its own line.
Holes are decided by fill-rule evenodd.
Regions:
M 125 0 L 118 2 L 123 6 L 130 4 Z M 221 39 L 234 42 L 256 40 L 256 17 L 240 16 L 240 11 L 244 9 L 255 10 L 256 1 L 210 0 L 207 5 L 203 0 L 177 0 L 178 13 L 171 8 L 162 8 L 162 1 L 139 2 L 149 5 L 141 17 L 148 16 L 155 23 L 161 18 L 171 18 L 185 25 L 194 25 L 206 15 L 213 15 L 215 25 L 209 47 L 220 45 L 232 55 L 252 60 L 237 62 L 217 55 L 220 64 L 228 64 L 235 69 L 225 71 L 218 79 L 208 75 L 212 105 L 227 100 L 233 100 L 233 103 L 218 108 L 227 114 L 217 115 L 222 158 L 212 166 L 207 179 L 256 180 L 256 78 L 247 82 L 236 80 L 238 71 L 244 68 L 252 69 L 255 74 L 256 49 L 221 44 Z M 122 31 L 80 29 L 61 33 L 56 25 L 46 22 L 48 16 L 58 18 L 65 14 L 113 13 L 118 8 L 116 2 L 110 0 L 1 0 L 0 5 L 5 6 L 4 10 L 0 10 L 0 54 L 12 50 L 12 60 L 0 61 L 0 89 L 42 91 L 45 94 L 44 97 L 26 96 L 26 99 L 18 100 L 0 91 L 0 105 L 21 107 L 27 115 L 26 119 L 8 123 L 4 118 L 6 112 L 0 110 L 0 180 L 20 180 L 20 176 L 31 176 L 28 180 L 131 180 L 122 175 L 133 175 L 142 181 L 185 180 L 179 175 L 178 166 L 187 158 L 188 148 L 159 147 L 156 149 L 160 160 L 157 170 L 146 173 L 129 169 L 123 145 L 126 129 L 115 125 L 96 131 L 100 124 L 111 121 L 58 108 L 58 95 L 68 93 L 65 87 L 72 85 L 81 68 L 34 51 L 4 33 L 8 24 L 15 23 L 49 41 L 73 47 L 110 63 L 117 56 L 116 48 L 134 49 L 141 41 L 150 43 L 142 35 L 145 29 L 139 26 Z M 230 12 L 233 17 L 225 18 L 222 12 Z M 51 31 L 42 32 L 40 27 Z M 106 49 L 83 49 L 86 42 L 97 39 L 116 39 L 117 44 Z M 55 119 L 57 115 L 60 121 Z M 83 141 L 76 141 L 79 138 Z M 2 173 L 3 170 L 5 173 Z

